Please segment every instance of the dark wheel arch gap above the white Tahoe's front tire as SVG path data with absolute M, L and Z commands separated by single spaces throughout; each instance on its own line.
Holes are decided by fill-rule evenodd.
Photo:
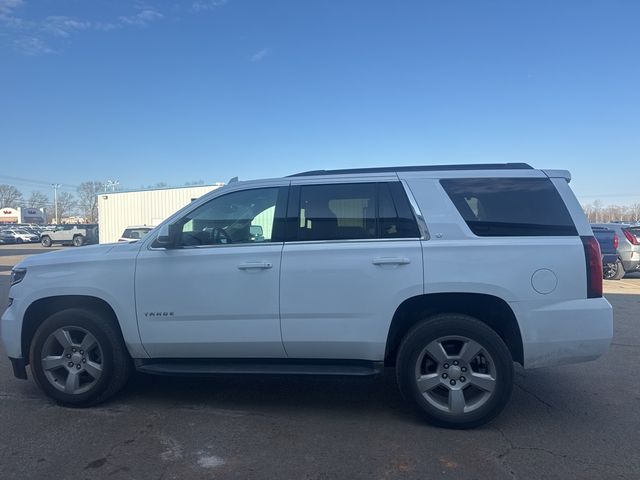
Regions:
M 67 308 L 85 308 L 93 312 L 104 314 L 105 318 L 116 326 L 120 336 L 124 338 L 120 322 L 118 321 L 118 317 L 116 316 L 114 309 L 104 299 L 90 295 L 59 295 L 44 297 L 31 303 L 24 314 L 20 340 L 22 355 L 25 360 L 28 361 L 31 340 L 33 339 L 33 335 L 36 333 L 40 324 L 54 313 Z

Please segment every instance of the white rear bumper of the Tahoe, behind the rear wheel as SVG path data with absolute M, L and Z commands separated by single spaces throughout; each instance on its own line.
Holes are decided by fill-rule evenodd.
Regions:
M 613 309 L 605 298 L 514 302 L 525 368 L 595 360 L 609 350 Z

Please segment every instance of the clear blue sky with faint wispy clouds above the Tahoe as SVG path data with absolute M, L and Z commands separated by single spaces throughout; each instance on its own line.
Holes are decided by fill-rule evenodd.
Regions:
M 529 162 L 640 201 L 635 0 L 0 0 L 0 183 L 26 195 Z

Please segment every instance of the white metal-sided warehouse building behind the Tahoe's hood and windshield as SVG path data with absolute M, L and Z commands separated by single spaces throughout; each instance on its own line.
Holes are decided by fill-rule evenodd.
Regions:
M 223 184 L 160 188 L 98 195 L 100 243 L 117 242 L 125 228 L 155 227 L 171 214 Z

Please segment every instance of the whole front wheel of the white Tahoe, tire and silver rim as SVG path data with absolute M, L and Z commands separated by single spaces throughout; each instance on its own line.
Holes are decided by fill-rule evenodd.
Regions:
M 29 352 L 38 386 L 56 402 L 86 407 L 126 383 L 131 359 L 111 319 L 89 310 L 54 313 L 36 330 Z

